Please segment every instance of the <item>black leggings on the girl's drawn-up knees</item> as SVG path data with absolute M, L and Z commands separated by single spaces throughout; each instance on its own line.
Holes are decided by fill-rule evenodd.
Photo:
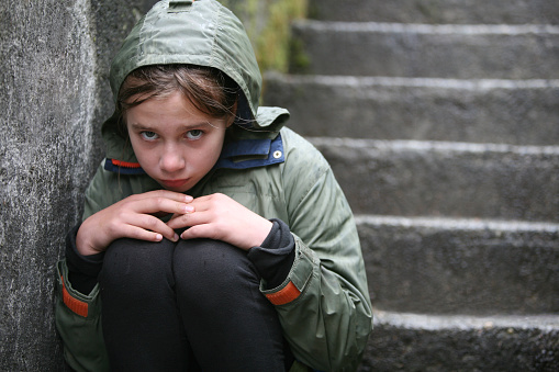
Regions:
M 284 371 L 293 362 L 259 275 L 228 244 L 119 239 L 99 281 L 113 371 Z

